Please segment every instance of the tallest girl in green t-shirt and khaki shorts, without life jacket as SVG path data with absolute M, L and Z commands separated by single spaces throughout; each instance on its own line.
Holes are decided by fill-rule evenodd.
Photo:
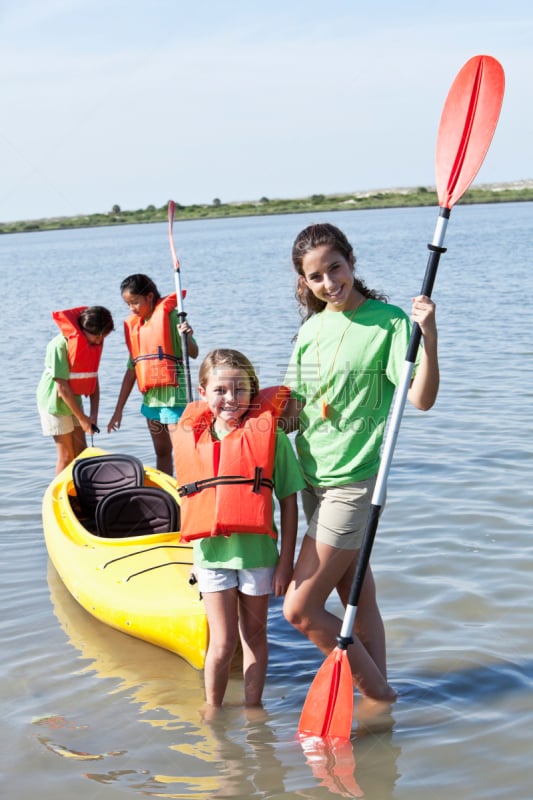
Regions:
M 411 325 L 401 309 L 354 275 L 353 248 L 334 225 L 305 228 L 294 242 L 292 258 L 305 321 L 285 378 L 291 401 L 284 418 L 291 427 L 298 419 L 296 447 L 307 481 L 302 499 L 309 527 L 284 614 L 328 654 L 336 646 L 341 620 L 326 609 L 326 601 L 336 590 L 343 605 L 348 602 Z M 416 408 L 427 410 L 439 385 L 433 302 L 414 298 L 411 318 L 420 326 L 424 348 L 408 397 Z M 355 686 L 366 697 L 393 702 L 370 568 L 353 640 L 348 658 Z

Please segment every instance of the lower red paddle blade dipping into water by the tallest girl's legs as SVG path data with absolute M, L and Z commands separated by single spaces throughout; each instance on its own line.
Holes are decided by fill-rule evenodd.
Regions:
M 346 650 L 336 647 L 318 670 L 300 715 L 298 733 L 349 739 L 353 680 Z

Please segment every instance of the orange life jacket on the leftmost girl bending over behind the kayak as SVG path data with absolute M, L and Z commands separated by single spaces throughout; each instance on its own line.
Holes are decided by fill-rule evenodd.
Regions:
M 103 344 L 89 344 L 78 322 L 87 306 L 52 311 L 52 318 L 67 340 L 70 388 L 74 394 L 91 395 L 96 389 Z

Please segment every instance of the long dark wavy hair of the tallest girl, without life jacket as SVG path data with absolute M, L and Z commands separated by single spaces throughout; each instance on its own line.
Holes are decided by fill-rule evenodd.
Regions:
M 312 250 L 322 245 L 334 247 L 344 258 L 353 264 L 355 269 L 355 253 L 352 245 L 344 235 L 344 233 L 335 225 L 329 222 L 317 223 L 315 225 L 308 225 L 303 231 L 300 231 L 294 244 L 292 246 L 292 263 L 294 269 L 298 273 L 298 281 L 296 283 L 296 300 L 300 306 L 300 313 L 304 317 L 304 321 L 309 319 L 313 314 L 323 311 L 326 303 L 319 300 L 305 282 L 305 275 L 303 271 L 303 260 L 305 256 Z M 371 297 L 374 300 L 381 300 L 387 302 L 386 295 L 374 289 L 369 289 L 365 282 L 354 273 L 354 286 L 357 291 L 361 292 L 364 297 Z

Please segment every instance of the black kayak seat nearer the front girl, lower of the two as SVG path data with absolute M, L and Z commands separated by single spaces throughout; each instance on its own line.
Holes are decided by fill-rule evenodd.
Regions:
M 156 486 L 117 489 L 96 506 L 96 534 L 108 538 L 178 531 L 176 500 Z

